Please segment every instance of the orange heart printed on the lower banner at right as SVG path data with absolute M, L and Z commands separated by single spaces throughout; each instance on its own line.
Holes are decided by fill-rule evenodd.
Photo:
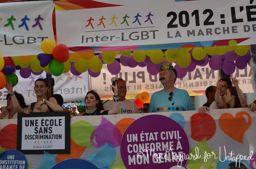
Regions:
M 248 122 L 246 122 L 246 115 Z M 232 139 L 243 143 L 244 133 L 252 124 L 252 118 L 247 112 L 238 112 L 235 117 L 230 113 L 224 113 L 219 118 L 219 126 L 221 130 Z

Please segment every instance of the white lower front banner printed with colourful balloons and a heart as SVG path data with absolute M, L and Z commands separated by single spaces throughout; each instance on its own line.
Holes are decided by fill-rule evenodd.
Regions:
M 256 113 L 250 112 L 249 108 L 210 110 L 207 114 L 199 114 L 194 110 L 175 113 L 162 112 L 73 117 L 71 118 L 70 126 L 70 154 L 56 155 L 45 152 L 44 155 L 26 155 L 26 159 L 33 169 L 51 168 L 56 163 L 70 158 L 85 159 L 97 167 L 105 166 L 112 169 L 158 168 L 159 160 L 159 166 L 169 166 L 168 168 L 170 168 L 173 163 L 168 161 L 167 157 L 164 156 L 156 156 L 154 159 L 156 163 L 154 163 L 154 165 L 147 164 L 147 159 L 143 159 L 141 162 L 139 159 L 136 159 L 136 157 L 134 161 L 130 161 L 130 165 L 128 161 L 124 161 L 124 163 L 122 161 L 122 159 L 124 160 L 125 158 L 123 158 L 120 149 L 124 147 L 121 147 L 123 145 L 122 143 L 120 145 L 120 141 L 122 136 L 129 131 L 127 130 L 127 132 L 125 132 L 127 128 L 130 128 L 129 125 L 132 124 L 132 122 L 135 121 L 131 126 L 132 128 L 135 127 L 136 130 L 127 134 L 134 134 L 135 136 L 136 133 L 140 133 L 138 134 L 138 139 L 140 139 L 140 141 L 142 141 L 142 139 L 144 140 L 140 143 L 140 149 L 143 146 L 150 145 L 150 139 L 157 136 L 155 134 L 153 137 L 151 137 L 150 134 L 147 136 L 147 133 L 171 132 L 172 128 L 169 128 L 168 123 L 161 123 L 162 129 L 160 129 L 160 126 L 157 126 L 157 129 L 154 128 L 154 124 L 156 125 L 159 122 L 152 122 L 151 125 L 140 124 L 150 126 L 145 129 L 147 133 L 143 132 L 144 130 L 142 131 L 140 126 L 136 127 L 138 124 L 136 122 L 150 115 L 162 115 L 172 118 L 172 120 L 177 122 L 177 125 L 179 124 L 179 130 L 186 132 L 190 152 L 186 158 L 190 157 L 192 159 L 188 159 L 187 163 L 182 163 L 181 166 L 183 166 L 183 168 L 207 169 L 211 166 L 212 169 L 226 169 L 231 162 L 236 162 L 236 160 L 246 165 L 248 169 L 256 168 Z M 141 133 L 143 133 L 143 138 Z M 178 139 L 178 135 L 176 136 Z M 179 136 L 182 137 L 179 139 L 183 139 L 182 135 Z M 16 138 L 17 120 L 0 120 L 0 153 L 5 149 L 16 149 Z M 123 136 L 123 139 L 126 138 L 128 137 Z M 147 138 L 148 140 L 146 140 Z M 164 139 L 164 137 L 162 137 L 162 139 Z M 177 142 L 177 139 L 173 139 Z M 164 143 L 165 141 L 167 140 L 165 139 Z M 152 143 L 153 142 L 156 144 L 157 141 L 152 141 Z M 182 143 L 182 140 L 180 140 L 180 142 Z M 133 153 L 140 151 L 136 149 L 136 142 L 131 142 L 131 145 L 133 145 L 133 147 L 131 149 L 129 145 L 129 150 L 132 150 Z M 181 145 L 183 146 L 183 144 Z M 184 146 L 184 150 L 186 149 L 185 147 L 188 147 L 188 145 Z M 157 148 L 162 149 L 163 146 L 161 145 Z M 151 156 L 150 158 L 152 159 Z

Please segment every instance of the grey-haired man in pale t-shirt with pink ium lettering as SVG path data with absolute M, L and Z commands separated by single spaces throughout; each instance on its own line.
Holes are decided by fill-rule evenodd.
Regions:
M 126 81 L 121 78 L 117 78 L 112 82 L 112 85 L 116 85 L 118 89 L 118 103 L 119 103 L 119 110 L 118 114 L 130 114 L 130 113 L 139 113 L 138 107 L 134 102 L 127 100 L 126 96 Z M 112 88 L 114 91 L 114 89 Z M 110 100 L 106 102 L 103 106 L 106 110 L 111 110 L 113 108 L 114 101 Z

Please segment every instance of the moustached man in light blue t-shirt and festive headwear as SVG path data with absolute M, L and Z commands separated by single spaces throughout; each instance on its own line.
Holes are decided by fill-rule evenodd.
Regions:
M 195 110 L 186 90 L 174 87 L 177 72 L 169 63 L 161 67 L 160 82 L 164 89 L 154 92 L 151 96 L 149 112 L 173 112 Z

